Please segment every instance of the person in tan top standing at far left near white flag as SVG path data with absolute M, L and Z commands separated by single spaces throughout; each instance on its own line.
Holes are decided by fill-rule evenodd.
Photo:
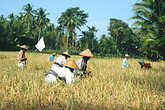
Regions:
M 27 47 L 25 45 L 20 46 L 21 50 L 18 54 L 18 66 L 22 67 L 26 64 L 27 58 L 25 57 L 25 52 L 27 51 Z

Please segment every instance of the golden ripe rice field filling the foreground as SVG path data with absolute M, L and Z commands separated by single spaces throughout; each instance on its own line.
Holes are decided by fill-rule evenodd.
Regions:
M 17 54 L 0 52 L 0 109 L 165 109 L 164 61 L 144 60 L 152 69 L 142 70 L 140 59 L 131 56 L 127 69 L 121 69 L 121 58 L 91 58 L 92 77 L 69 86 L 60 80 L 54 85 L 45 83 L 44 74 L 52 65 L 47 61 L 50 54 L 26 52 L 28 62 L 23 69 L 17 67 Z

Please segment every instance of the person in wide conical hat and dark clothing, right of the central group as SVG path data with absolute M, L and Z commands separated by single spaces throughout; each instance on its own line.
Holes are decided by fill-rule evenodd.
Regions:
M 75 70 L 74 73 L 76 75 L 90 75 L 91 71 L 87 71 L 87 62 L 91 57 L 93 57 L 93 54 L 89 49 L 86 49 L 79 55 L 82 56 L 82 58 L 76 62 L 77 66 L 79 67 L 79 70 Z

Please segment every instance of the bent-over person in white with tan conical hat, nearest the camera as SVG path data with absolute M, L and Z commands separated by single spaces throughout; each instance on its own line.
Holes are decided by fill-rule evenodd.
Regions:
M 74 81 L 73 70 L 78 69 L 78 66 L 71 60 L 64 64 L 61 68 L 52 68 L 49 72 L 45 74 L 45 81 L 48 83 L 56 83 L 57 77 L 60 79 L 65 78 L 65 82 L 71 85 Z

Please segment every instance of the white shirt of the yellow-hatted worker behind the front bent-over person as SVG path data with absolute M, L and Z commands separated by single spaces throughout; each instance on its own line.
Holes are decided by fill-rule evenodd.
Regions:
M 54 60 L 54 62 L 56 62 L 56 63 L 60 64 L 61 66 L 63 66 L 66 63 L 66 58 L 65 58 L 65 56 L 57 57 L 56 60 Z M 51 69 L 53 69 L 53 68 L 61 68 L 61 67 L 57 64 L 53 64 L 51 66 Z

